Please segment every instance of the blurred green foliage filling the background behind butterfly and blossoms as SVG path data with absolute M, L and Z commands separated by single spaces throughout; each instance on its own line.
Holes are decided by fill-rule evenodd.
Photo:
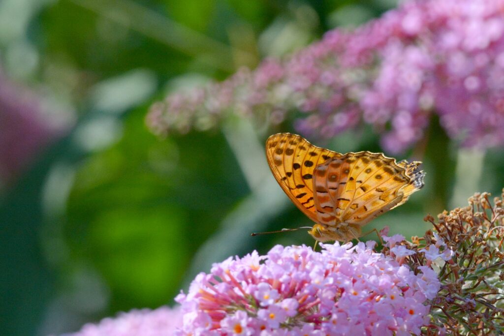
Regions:
M 265 252 L 275 243 L 311 245 L 301 231 L 249 237 L 309 225 L 263 155 L 267 136 L 291 125 L 264 129 L 234 120 L 216 131 L 157 139 L 144 117 L 170 90 L 226 78 L 241 65 L 255 66 L 392 6 L 377 0 L 4 0 L 0 26 L 19 27 L 0 36 L 3 70 L 70 121 L 68 135 L 2 190 L 0 329 L 68 332 L 117 311 L 172 305 L 212 262 L 254 248 Z M 31 67 L 26 53 L 16 56 L 20 45 L 34 55 Z M 461 156 L 483 156 L 461 154 L 437 125 L 417 149 L 425 153 L 425 189 L 370 227 L 422 234 L 428 212 L 464 205 L 450 204 L 461 179 L 475 180 L 460 189 L 462 199 L 504 185 L 498 150 L 474 160 L 469 175 L 457 175 Z M 381 151 L 366 130 L 317 145 Z

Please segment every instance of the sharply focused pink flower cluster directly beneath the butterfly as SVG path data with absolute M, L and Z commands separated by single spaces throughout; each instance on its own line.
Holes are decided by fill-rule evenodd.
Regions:
M 177 296 L 184 315 L 175 334 L 410 335 L 428 323 L 427 300 L 440 285 L 430 267 L 415 275 L 401 264 L 413 251 L 401 246 L 393 258 L 374 242 L 321 246 L 277 245 L 214 264 Z

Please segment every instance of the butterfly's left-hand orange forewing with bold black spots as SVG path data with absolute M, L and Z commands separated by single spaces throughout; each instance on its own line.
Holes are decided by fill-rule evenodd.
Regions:
M 273 176 L 306 216 L 317 222 L 313 199 L 313 171 L 341 154 L 311 145 L 290 133 L 278 133 L 266 142 L 266 157 Z

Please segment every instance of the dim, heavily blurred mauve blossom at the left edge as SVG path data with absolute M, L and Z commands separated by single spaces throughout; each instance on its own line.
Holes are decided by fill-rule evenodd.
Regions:
M 12 181 L 51 140 L 61 136 L 42 114 L 41 99 L 0 73 L 0 180 Z

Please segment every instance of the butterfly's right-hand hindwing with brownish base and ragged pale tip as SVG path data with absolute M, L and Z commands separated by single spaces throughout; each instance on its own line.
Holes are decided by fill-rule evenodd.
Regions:
M 423 186 L 420 162 L 396 163 L 382 153 L 347 153 L 314 171 L 318 222 L 363 226 L 401 204 Z

